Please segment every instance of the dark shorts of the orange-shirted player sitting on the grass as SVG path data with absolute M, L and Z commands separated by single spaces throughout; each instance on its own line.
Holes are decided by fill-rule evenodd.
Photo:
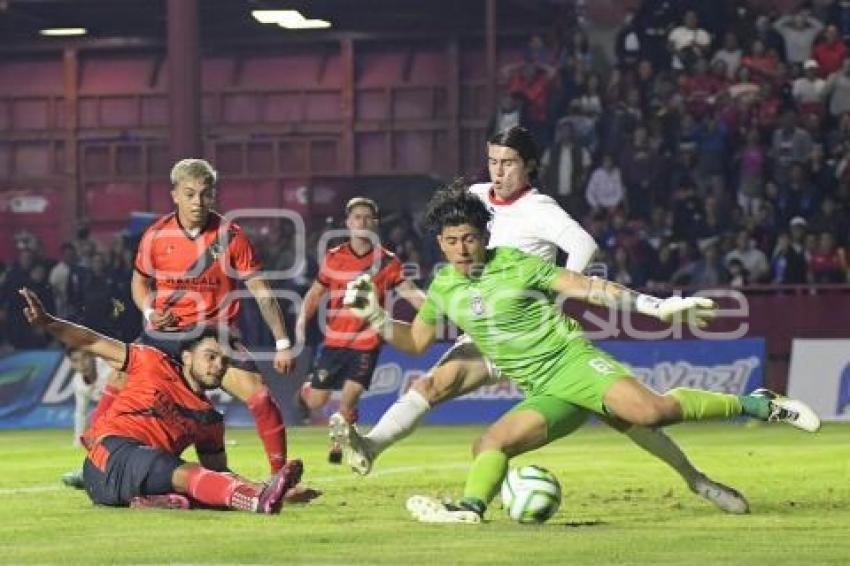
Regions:
M 93 503 L 126 506 L 139 495 L 174 493 L 171 478 L 183 464 L 177 456 L 132 438 L 107 436 L 86 457 L 83 483 Z

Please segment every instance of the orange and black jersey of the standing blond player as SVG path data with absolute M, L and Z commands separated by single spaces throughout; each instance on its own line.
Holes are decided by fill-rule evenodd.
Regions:
M 239 313 L 239 301 L 231 294 L 235 279 L 250 278 L 261 264 L 236 224 L 213 212 L 192 237 L 171 213 L 145 230 L 135 268 L 155 282 L 152 308 L 170 308 L 183 329 L 207 321 L 234 323 Z

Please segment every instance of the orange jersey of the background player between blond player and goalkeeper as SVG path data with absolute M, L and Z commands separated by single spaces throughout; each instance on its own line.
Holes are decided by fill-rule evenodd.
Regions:
M 328 289 L 329 303 L 325 328 L 325 345 L 352 350 L 374 350 L 381 345 L 381 336 L 363 319 L 342 304 L 345 287 L 357 276 L 372 276 L 378 301 L 383 304 L 387 291 L 404 281 L 401 262 L 384 248 L 372 248 L 357 255 L 348 243 L 328 250 L 319 268 L 318 281 Z

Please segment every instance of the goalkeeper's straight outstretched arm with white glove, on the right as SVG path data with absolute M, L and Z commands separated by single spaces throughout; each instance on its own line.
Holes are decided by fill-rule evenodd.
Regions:
M 586 277 L 566 269 L 560 270 L 552 282 L 552 290 L 571 299 L 592 305 L 636 311 L 663 322 L 670 322 L 679 317 L 692 317 L 699 328 L 708 326 L 717 313 L 717 305 L 706 297 L 674 296 L 659 299 L 632 291 L 607 279 Z

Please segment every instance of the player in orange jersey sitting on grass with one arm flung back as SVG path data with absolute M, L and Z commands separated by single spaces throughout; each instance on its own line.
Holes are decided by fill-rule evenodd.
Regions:
M 267 484 L 231 473 L 224 420 L 205 391 L 221 386 L 229 359 L 214 330 L 180 349 L 182 365 L 150 346 L 125 344 L 51 316 L 29 289 L 21 289 L 27 321 L 68 348 L 103 358 L 124 372 L 124 389 L 83 436 L 86 492 L 94 503 L 188 508 L 191 504 L 278 513 L 303 470 L 290 460 Z M 199 463 L 180 454 L 195 445 Z

